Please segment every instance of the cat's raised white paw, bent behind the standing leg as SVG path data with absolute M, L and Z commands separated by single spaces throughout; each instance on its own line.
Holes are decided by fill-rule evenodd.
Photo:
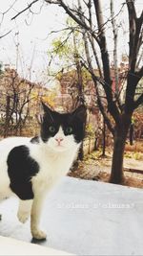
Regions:
M 19 208 L 17 212 L 18 220 L 22 223 L 28 221 L 31 215 L 32 200 L 19 200 Z

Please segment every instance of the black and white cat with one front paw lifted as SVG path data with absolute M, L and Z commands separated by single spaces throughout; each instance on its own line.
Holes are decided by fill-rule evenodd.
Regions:
M 40 135 L 10 137 L 0 142 L 0 200 L 17 196 L 17 217 L 25 222 L 31 215 L 31 235 L 47 235 L 39 222 L 44 198 L 76 159 L 85 136 L 86 106 L 71 113 L 58 113 L 42 103 L 44 114 Z

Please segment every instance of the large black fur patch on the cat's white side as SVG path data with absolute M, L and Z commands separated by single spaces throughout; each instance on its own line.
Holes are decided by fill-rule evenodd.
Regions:
M 31 177 L 39 171 L 38 163 L 30 156 L 26 146 L 13 148 L 8 155 L 10 189 L 21 199 L 32 199 Z

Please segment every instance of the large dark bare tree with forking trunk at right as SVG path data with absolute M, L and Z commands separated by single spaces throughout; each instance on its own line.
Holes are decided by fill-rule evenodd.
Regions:
M 125 99 L 124 102 L 120 104 L 120 93 L 116 93 L 118 90 L 117 80 L 117 90 L 115 90 L 115 93 L 112 90 L 111 63 L 107 47 L 106 28 L 109 23 L 112 22 L 113 35 L 114 39 L 116 40 L 117 37 L 114 31 L 114 18 L 121 12 L 121 10 L 114 15 L 112 8 L 112 16 L 104 21 L 103 9 L 101 7 L 100 0 L 83 0 L 82 4 L 80 4 L 80 1 L 77 1 L 73 6 L 64 0 L 45 0 L 45 2 L 47 4 L 54 4 L 63 8 L 64 11 L 72 17 L 72 19 L 83 31 L 85 51 L 87 52 L 87 61 L 82 61 L 82 64 L 92 74 L 92 80 L 94 81 L 96 87 L 99 108 L 104 116 L 107 127 L 111 130 L 113 135 L 114 145 L 112 154 L 111 182 L 120 183 L 124 177 L 124 150 L 127 134 L 132 122 L 133 111 L 143 102 L 143 93 L 141 93 L 137 99 L 134 99 L 135 89 L 143 76 L 143 66 L 141 67 L 138 65 L 139 51 L 143 38 L 143 12 L 140 14 L 140 16 L 137 16 L 134 0 L 126 0 L 125 4 L 123 4 L 121 7 L 121 10 L 123 6 L 127 8 L 129 16 L 129 65 L 126 77 L 127 84 L 125 88 Z M 31 4 L 34 4 L 34 1 L 32 1 Z M 17 13 L 13 18 L 17 17 L 20 13 L 21 12 Z M 92 13 L 93 17 L 91 15 Z M 114 41 L 114 63 L 116 64 L 117 59 L 115 58 L 117 54 L 115 53 L 115 43 L 117 43 L 117 41 Z M 93 45 L 95 45 L 95 48 L 93 48 Z M 97 61 L 99 58 L 97 58 L 96 52 L 93 52 L 93 49 L 99 49 L 100 51 L 100 58 L 102 61 L 100 77 L 94 73 L 92 58 L 94 58 L 95 61 Z M 117 78 L 117 70 L 115 76 Z M 104 95 L 101 93 L 101 86 Z

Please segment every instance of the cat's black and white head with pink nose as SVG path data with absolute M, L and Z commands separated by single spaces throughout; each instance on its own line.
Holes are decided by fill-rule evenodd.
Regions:
M 52 151 L 68 151 L 80 145 L 85 135 L 86 107 L 80 105 L 72 113 L 58 113 L 43 104 L 41 139 Z

